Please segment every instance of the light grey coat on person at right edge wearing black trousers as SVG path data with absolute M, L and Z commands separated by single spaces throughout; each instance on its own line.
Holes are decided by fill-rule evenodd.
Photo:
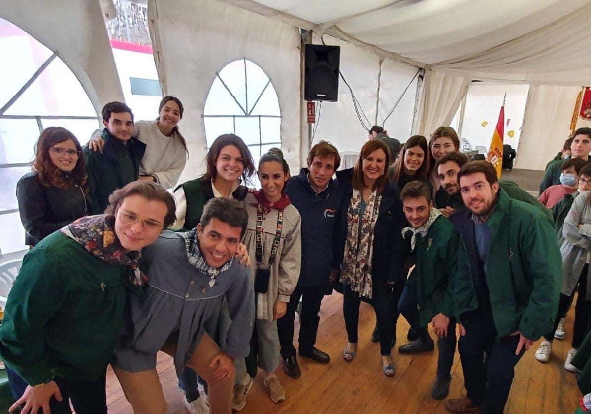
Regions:
M 564 242 L 560 247 L 562 255 L 563 281 L 561 294 L 572 295 L 579 282 L 587 259 L 587 253 L 591 250 L 591 206 L 589 206 L 589 191 L 582 191 L 574 199 L 569 214 L 564 219 L 562 234 Z M 579 224 L 582 227 L 579 229 Z M 587 270 L 587 297 L 591 299 L 591 267 Z

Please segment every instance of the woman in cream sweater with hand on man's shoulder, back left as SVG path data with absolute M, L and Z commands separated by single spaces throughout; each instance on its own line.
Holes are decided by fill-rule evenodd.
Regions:
M 165 96 L 158 105 L 158 118 L 140 120 L 134 125 L 134 136 L 147 145 L 138 180 L 155 181 L 165 188 L 177 184 L 187 162 L 187 142 L 178 131 L 178 121 L 183 119 L 184 107 L 180 99 Z M 93 151 L 103 151 L 105 141 L 98 136 L 90 139 Z

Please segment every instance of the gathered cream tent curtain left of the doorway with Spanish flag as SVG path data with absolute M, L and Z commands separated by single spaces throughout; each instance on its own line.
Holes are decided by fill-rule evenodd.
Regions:
M 452 122 L 468 87 L 470 78 L 427 70 L 425 72 L 418 133 L 430 136 L 440 126 Z

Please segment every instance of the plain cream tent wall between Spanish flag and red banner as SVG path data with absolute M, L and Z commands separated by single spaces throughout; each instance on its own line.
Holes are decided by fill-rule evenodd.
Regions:
M 569 138 L 579 86 L 531 86 L 515 168 L 544 170 Z M 577 128 L 591 122 L 577 116 Z

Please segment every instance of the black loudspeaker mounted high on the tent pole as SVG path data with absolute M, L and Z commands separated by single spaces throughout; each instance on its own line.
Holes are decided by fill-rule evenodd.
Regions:
M 306 45 L 304 99 L 339 100 L 340 46 Z

